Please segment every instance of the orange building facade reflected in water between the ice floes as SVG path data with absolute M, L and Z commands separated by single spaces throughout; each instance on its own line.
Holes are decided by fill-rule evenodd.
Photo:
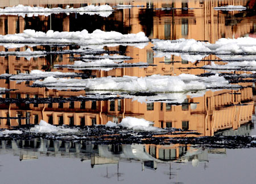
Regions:
M 57 2 L 55 1 L 55 4 Z M 59 6 L 65 7 L 61 4 Z M 125 3 L 125 2 L 124 2 Z M 78 14 L 53 14 L 51 16 L 33 16 L 24 18 L 22 16 L 1 15 L 0 34 L 15 34 L 31 28 L 37 31 L 81 31 L 82 29 L 93 30 L 99 28 L 104 31 L 119 31 L 123 34 L 137 33 L 143 31 L 152 39 L 186 39 L 207 40 L 215 43 L 221 37 L 241 37 L 244 35 L 255 35 L 255 16 L 250 11 L 243 12 L 220 12 L 213 7 L 226 5 L 227 1 L 158 1 L 158 2 L 133 2 L 132 5 L 144 5 L 147 9 L 134 7 L 133 9 L 115 10 L 109 18 L 99 16 Z M 251 6 L 249 1 L 240 1 L 239 5 Z M 101 3 L 104 4 L 104 3 Z M 89 3 L 88 3 L 89 5 Z M 0 6 L 9 6 L 1 4 Z M 44 5 L 45 7 L 47 5 Z M 55 5 L 52 5 L 55 6 Z M 74 3 L 74 7 L 85 6 Z M 153 10 L 150 7 L 184 8 L 188 10 Z M 200 9 L 190 9 L 200 8 Z M 236 16 L 242 17 L 240 21 L 234 21 Z M 84 19 L 92 24 L 81 24 Z M 74 25 L 79 25 L 76 27 Z M 154 57 L 152 43 L 143 48 L 131 46 L 105 47 L 109 51 L 123 51 L 133 60 L 125 62 L 145 62 L 156 64 L 148 68 L 122 68 L 113 69 L 108 72 L 102 70 L 75 70 L 77 73 L 86 73 L 92 77 L 122 77 L 138 76 L 147 77 L 152 74 L 176 76 L 181 73 L 202 74 L 207 71 L 203 69 L 187 69 L 189 67 L 201 67 L 210 64 L 209 60 L 220 58 L 210 55 L 203 61 L 190 62 L 180 56 Z M 20 52 L 30 48 L 31 51 L 61 51 L 71 50 L 77 47 L 67 46 L 64 48 L 50 46 L 5 48 L 0 51 Z M 80 55 L 50 55 L 45 57 L 18 57 L 6 55 L 0 57 L 0 74 L 30 73 L 31 70 L 73 72 L 67 68 L 53 68 L 53 64 L 72 64 L 74 58 Z M 174 62 L 179 61 L 179 62 Z M 181 69 L 182 68 L 182 69 Z M 185 68 L 185 69 L 184 69 Z M 243 73 L 232 72 L 232 73 Z M 48 98 L 48 97 L 77 97 L 86 95 L 85 91 L 58 91 L 45 87 L 29 87 L 33 81 L 19 82 L 1 80 L 1 87 L 15 89 L 9 93 L 1 94 L 2 98 Z M 253 83 L 240 83 L 243 86 L 253 86 Z M 181 128 L 196 130 L 202 136 L 212 136 L 214 132 L 224 129 L 239 129 L 243 124 L 251 122 L 254 109 L 254 94 L 252 87 L 239 90 L 207 91 L 201 97 L 191 98 L 189 95 L 184 99 L 184 104 L 176 106 L 163 102 L 140 103 L 132 99 L 116 99 L 113 101 L 70 101 L 65 103 L 2 103 L 0 104 L 1 128 L 10 128 L 23 124 L 38 124 L 41 119 L 50 124 L 67 124 L 69 126 L 92 126 L 95 124 L 106 124 L 109 120 L 120 123 L 126 116 L 144 118 L 154 122 L 155 127 Z M 5 119 L 6 118 L 6 119 Z M 16 118 L 16 119 L 10 119 Z M 23 118 L 23 119 L 22 119 Z M 152 152 L 151 147 L 147 149 L 148 154 Z M 150 153 L 149 153 L 150 152 Z M 174 152 L 174 151 L 173 151 Z M 171 152 L 170 152 L 171 153 Z M 178 155 L 179 150 L 175 150 Z M 160 151 L 159 151 L 159 157 Z M 170 157 L 171 158 L 171 157 Z M 176 158 L 176 157 L 175 157 Z M 96 159 L 97 160 L 97 159 Z M 95 161 L 96 162 L 96 161 Z

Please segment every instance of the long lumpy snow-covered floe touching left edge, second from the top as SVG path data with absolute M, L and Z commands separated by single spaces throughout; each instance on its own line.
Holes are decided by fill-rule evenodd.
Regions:
M 144 32 L 138 34 L 121 34 L 95 30 L 91 34 L 87 30 L 76 32 L 59 32 L 49 30 L 46 33 L 35 30 L 24 30 L 23 33 L 0 35 L 0 43 L 5 44 L 72 44 L 72 45 L 108 45 L 147 43 Z M 10 46 L 10 45 L 9 45 Z M 97 46 L 98 47 L 98 46 Z

